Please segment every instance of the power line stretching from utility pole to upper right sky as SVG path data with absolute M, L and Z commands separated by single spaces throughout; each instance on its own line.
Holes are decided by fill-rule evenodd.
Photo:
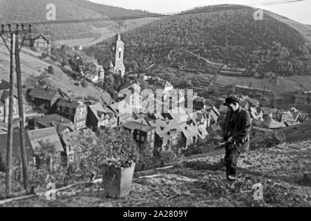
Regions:
M 279 5 L 283 3 L 294 3 L 299 1 L 305 0 L 284 0 L 284 1 L 270 1 L 265 3 L 254 3 L 246 6 L 229 6 L 229 7 L 222 7 L 222 8 L 211 8 L 211 9 L 200 9 L 200 10 L 191 10 L 191 11 L 182 11 L 182 12 L 168 12 L 164 14 L 148 14 L 148 15 L 134 15 L 134 16 L 123 16 L 123 17 L 104 17 L 104 18 L 93 18 L 93 19 L 72 19 L 72 20 L 60 20 L 60 21 L 33 21 L 33 22 L 21 22 L 19 24 L 30 24 L 30 25 L 49 25 L 49 24 L 61 24 L 61 23 L 86 23 L 86 22 L 96 22 L 96 21 L 116 21 L 116 20 L 129 20 L 129 19 L 142 19 L 148 17 L 169 17 L 172 15 L 194 15 L 199 13 L 206 13 L 206 12 L 220 12 L 225 10 L 238 10 L 249 8 L 252 6 L 273 6 Z

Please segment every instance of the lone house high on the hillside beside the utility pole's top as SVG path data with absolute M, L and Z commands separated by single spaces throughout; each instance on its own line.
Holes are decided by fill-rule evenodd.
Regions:
M 34 48 L 38 52 L 50 53 L 50 35 L 28 34 L 26 37 L 26 45 Z

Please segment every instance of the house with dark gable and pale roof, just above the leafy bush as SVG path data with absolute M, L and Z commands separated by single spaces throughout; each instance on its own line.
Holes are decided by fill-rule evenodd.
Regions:
M 97 132 L 101 127 L 115 127 L 117 126 L 117 115 L 110 108 L 102 106 L 100 103 L 90 105 L 88 106 L 86 126 L 94 132 Z

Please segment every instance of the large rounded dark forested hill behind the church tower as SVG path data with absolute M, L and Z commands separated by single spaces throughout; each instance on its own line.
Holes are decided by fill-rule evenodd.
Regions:
M 229 6 L 208 6 L 207 9 L 222 7 Z M 284 76 L 310 74 L 311 48 L 305 46 L 303 36 L 267 13 L 263 21 L 255 21 L 254 12 L 254 8 L 243 8 L 176 15 L 126 32 L 122 36 L 126 67 L 144 70 L 155 62 L 207 66 L 206 62 L 185 52 L 189 50 L 209 61 L 245 67 L 249 76 L 263 77 L 270 71 Z M 104 50 L 111 49 L 113 41 L 105 41 L 88 52 L 98 57 Z

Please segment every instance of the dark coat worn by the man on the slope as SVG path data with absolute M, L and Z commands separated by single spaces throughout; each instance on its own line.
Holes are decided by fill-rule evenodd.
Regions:
M 227 141 L 229 137 L 227 136 L 229 130 L 230 117 L 232 115 L 232 110 L 227 111 L 227 116 L 224 124 L 224 140 Z M 232 138 L 236 142 L 236 148 L 239 152 L 245 153 L 249 151 L 249 133 L 252 127 L 251 118 L 248 111 L 245 111 L 241 106 L 238 108 L 232 124 Z

